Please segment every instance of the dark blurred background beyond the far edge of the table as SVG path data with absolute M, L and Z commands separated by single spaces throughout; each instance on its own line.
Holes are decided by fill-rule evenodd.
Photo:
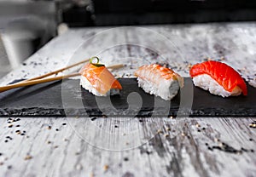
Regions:
M 1 0 L 0 77 L 68 28 L 254 20 L 249 0 Z

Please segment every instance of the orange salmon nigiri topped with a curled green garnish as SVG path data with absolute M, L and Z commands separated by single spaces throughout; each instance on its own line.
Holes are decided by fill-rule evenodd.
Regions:
M 94 59 L 97 60 L 96 63 L 92 62 Z M 108 68 L 99 64 L 97 57 L 92 57 L 90 63 L 80 70 L 80 74 L 80 85 L 96 96 L 119 94 L 119 90 L 122 89 L 121 84 Z

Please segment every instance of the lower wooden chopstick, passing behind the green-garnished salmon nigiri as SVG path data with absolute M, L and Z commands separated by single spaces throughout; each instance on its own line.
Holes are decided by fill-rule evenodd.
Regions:
M 108 69 L 119 69 L 123 66 L 124 65 L 122 65 L 122 64 L 108 66 Z M 41 79 L 35 79 L 35 80 L 26 81 L 26 82 L 14 83 L 14 84 L 0 87 L 0 92 L 4 92 L 4 91 L 7 91 L 12 88 L 20 88 L 20 87 L 34 85 L 34 84 L 38 84 L 38 83 L 48 83 L 51 81 L 57 81 L 57 80 L 61 80 L 61 79 L 68 78 L 68 77 L 77 77 L 79 75 L 80 75 L 80 73 L 76 72 L 76 73 L 72 73 L 72 74 L 68 74 L 68 75 L 64 75 L 64 76 L 60 76 L 60 77 L 41 78 Z

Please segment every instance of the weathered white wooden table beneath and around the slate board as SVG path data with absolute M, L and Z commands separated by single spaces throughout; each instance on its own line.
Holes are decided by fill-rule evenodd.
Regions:
M 125 63 L 116 77 L 156 61 L 188 77 L 190 64 L 224 56 L 255 84 L 255 34 L 254 23 L 73 29 L 0 84 L 92 55 Z M 1 117 L 0 176 L 255 176 L 253 118 Z

